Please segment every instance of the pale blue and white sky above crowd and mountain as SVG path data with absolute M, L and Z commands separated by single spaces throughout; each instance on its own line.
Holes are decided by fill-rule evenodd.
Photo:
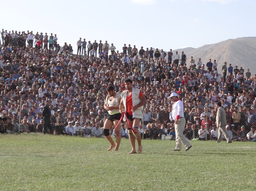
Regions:
M 12 0 L 1 7 L 1 29 L 53 33 L 74 50 L 79 37 L 117 50 L 126 43 L 168 51 L 256 31 L 256 0 Z

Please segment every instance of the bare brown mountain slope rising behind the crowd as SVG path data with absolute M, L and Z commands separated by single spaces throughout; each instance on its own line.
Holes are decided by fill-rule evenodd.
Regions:
M 252 76 L 256 74 L 256 37 L 229 39 L 211 45 L 204 45 L 197 49 L 191 47 L 177 49 L 173 50 L 173 54 L 175 54 L 175 51 L 178 51 L 180 55 L 184 51 L 187 56 L 187 64 L 189 64 L 191 56 L 196 62 L 198 58 L 201 58 L 203 64 L 206 64 L 209 59 L 212 59 L 212 62 L 216 59 L 219 72 L 221 72 L 224 62 L 227 62 L 228 64 L 231 63 L 233 67 L 237 65 L 238 69 L 240 69 L 240 66 L 245 71 L 250 69 Z

